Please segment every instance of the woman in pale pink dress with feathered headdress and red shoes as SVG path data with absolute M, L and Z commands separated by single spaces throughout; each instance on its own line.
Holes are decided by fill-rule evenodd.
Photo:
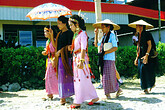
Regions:
M 73 73 L 75 98 L 71 108 L 79 108 L 85 101 L 92 99 L 89 105 L 99 100 L 96 90 L 91 82 L 87 56 L 88 37 L 85 32 L 84 20 L 78 15 L 69 18 L 69 25 L 74 32 L 71 50 L 73 51 Z

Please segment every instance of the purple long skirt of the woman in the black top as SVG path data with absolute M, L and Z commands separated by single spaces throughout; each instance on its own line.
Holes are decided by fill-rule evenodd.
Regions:
M 69 59 L 69 63 L 71 66 L 71 59 Z M 58 62 L 58 90 L 61 98 L 74 95 L 73 76 L 66 73 L 61 57 L 59 57 Z

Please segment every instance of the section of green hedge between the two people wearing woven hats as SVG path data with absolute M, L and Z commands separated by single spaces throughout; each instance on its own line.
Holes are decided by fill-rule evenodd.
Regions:
M 119 47 L 116 54 L 116 68 L 119 74 L 124 77 L 137 77 L 137 66 L 134 65 L 136 46 Z

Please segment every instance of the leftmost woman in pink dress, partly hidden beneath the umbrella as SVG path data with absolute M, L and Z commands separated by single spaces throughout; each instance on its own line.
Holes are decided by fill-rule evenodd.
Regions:
M 45 74 L 45 87 L 47 96 L 53 99 L 53 94 L 58 94 L 58 80 L 56 78 L 55 68 L 52 66 L 52 59 L 54 58 L 55 41 L 53 36 L 53 30 L 48 26 L 44 28 L 44 35 L 48 38 L 46 42 L 46 49 L 42 52 L 43 55 L 47 55 L 47 65 Z

